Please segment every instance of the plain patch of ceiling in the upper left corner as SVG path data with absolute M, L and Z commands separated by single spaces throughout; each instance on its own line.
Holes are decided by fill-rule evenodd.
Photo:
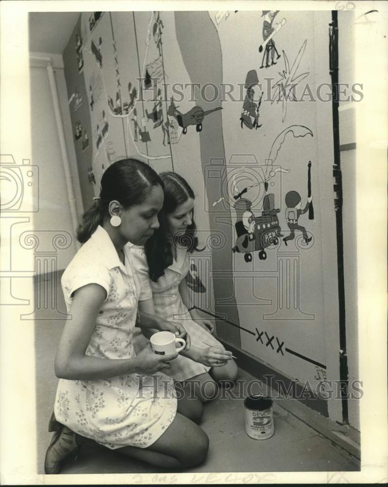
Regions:
M 80 12 L 31 12 L 29 51 L 62 54 L 79 15 Z

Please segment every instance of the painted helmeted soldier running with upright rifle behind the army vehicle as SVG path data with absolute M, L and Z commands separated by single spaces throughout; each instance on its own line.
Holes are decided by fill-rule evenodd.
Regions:
M 314 219 L 314 209 L 312 207 L 312 195 L 311 195 L 311 161 L 309 161 L 308 165 L 308 197 L 306 206 L 302 208 L 302 198 L 297 191 L 289 191 L 286 194 L 286 223 L 291 230 L 290 235 L 283 239 L 283 242 L 287 246 L 287 242 L 289 240 L 293 240 L 295 238 L 295 230 L 299 230 L 302 232 L 302 235 L 305 240 L 305 244 L 307 245 L 312 237 L 307 235 L 306 228 L 304 226 L 299 225 L 298 219 L 300 215 L 306 213 L 309 210 L 309 219 Z

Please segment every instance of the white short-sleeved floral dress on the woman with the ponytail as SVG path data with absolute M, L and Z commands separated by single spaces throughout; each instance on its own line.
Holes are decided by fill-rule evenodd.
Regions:
M 120 262 L 108 233 L 98 226 L 63 273 L 61 283 L 67 309 L 81 286 L 97 283 L 106 290 L 86 355 L 120 359 L 134 357 L 139 281 L 124 247 Z M 146 448 L 172 423 L 176 393 L 164 374 L 119 375 L 101 380 L 59 379 L 54 408 L 56 419 L 82 436 L 112 450 L 124 446 Z

